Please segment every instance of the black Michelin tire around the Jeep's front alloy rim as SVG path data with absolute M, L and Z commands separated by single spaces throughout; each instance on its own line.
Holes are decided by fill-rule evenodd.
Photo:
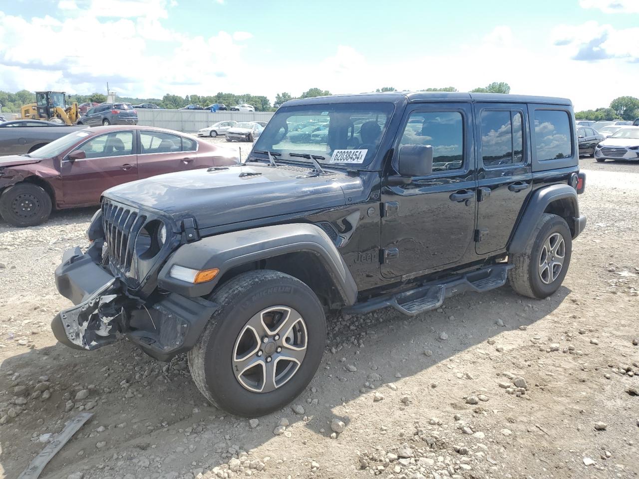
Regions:
M 307 328 L 307 351 L 295 375 L 269 393 L 243 388 L 233 373 L 233 349 L 251 316 L 271 306 L 288 306 L 300 313 Z M 304 283 L 282 277 L 266 281 L 251 291 L 236 296 L 217 314 L 204 359 L 204 377 L 215 402 L 227 411 L 242 416 L 261 416 L 281 408 L 300 394 L 318 369 L 326 341 L 326 321 L 317 297 Z

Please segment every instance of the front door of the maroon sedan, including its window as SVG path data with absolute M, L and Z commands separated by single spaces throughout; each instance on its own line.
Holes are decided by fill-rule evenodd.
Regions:
M 104 190 L 137 179 L 134 131 L 111 132 L 83 143 L 74 151 L 86 153 L 82 160 L 62 160 L 65 204 L 97 204 Z

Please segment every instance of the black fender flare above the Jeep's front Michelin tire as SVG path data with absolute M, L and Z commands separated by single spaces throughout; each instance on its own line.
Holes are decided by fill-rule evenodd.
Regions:
M 206 296 L 213 291 L 219 278 L 235 266 L 300 251 L 318 257 L 344 305 L 355 303 L 357 285 L 334 243 L 317 225 L 304 223 L 234 231 L 183 245 L 160 270 L 158 286 L 191 298 Z M 194 270 L 219 268 L 220 272 L 212 281 L 191 284 L 169 275 L 176 264 Z

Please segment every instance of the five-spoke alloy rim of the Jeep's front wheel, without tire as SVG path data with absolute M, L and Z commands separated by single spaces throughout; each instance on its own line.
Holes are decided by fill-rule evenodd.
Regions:
M 268 393 L 300 369 L 308 345 L 304 319 L 293 308 L 272 306 L 252 316 L 233 347 L 233 373 L 243 388 Z

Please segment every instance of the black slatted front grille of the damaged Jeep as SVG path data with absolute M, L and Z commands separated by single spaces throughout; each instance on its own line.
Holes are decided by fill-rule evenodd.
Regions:
M 146 217 L 129 206 L 109 199 L 102 200 L 102 226 L 109 253 L 109 262 L 128 273 L 133 260 L 135 238 Z

